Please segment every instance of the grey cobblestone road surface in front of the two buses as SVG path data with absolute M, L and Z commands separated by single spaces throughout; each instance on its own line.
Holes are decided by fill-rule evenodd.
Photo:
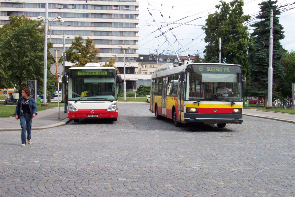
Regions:
M 120 104 L 117 122 L 0 132 L 0 196 L 295 196 L 294 125 L 176 128 L 148 104 Z

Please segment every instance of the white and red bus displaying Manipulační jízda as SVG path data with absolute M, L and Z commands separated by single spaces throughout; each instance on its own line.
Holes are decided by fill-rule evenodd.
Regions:
M 66 79 L 65 79 L 66 81 Z M 117 83 L 122 83 L 113 67 L 88 63 L 68 72 L 68 118 L 118 118 Z

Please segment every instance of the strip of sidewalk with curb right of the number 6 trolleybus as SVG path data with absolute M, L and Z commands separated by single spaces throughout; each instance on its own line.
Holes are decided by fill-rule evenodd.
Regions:
M 286 113 L 274 113 L 270 111 L 256 111 L 257 109 L 243 109 L 243 115 L 256 118 L 266 118 L 270 120 L 283 121 L 295 124 L 295 115 Z

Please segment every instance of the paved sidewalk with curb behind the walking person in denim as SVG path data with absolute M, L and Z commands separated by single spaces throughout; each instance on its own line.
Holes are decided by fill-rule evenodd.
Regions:
M 68 114 L 64 113 L 64 106 L 60 107 L 60 119 L 58 119 L 58 107 L 38 111 L 33 118 L 32 130 L 40 130 L 65 125 L 68 121 Z M 21 131 L 20 122 L 15 117 L 0 118 L 0 131 Z

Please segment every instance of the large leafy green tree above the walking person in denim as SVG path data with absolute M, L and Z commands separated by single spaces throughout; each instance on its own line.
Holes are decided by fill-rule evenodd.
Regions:
M 38 80 L 43 92 L 44 26 L 41 21 L 24 16 L 10 16 L 10 23 L 0 28 L 0 87 L 26 87 L 26 80 Z M 52 46 L 49 44 L 49 46 Z M 47 90 L 54 93 L 54 81 L 47 69 Z

